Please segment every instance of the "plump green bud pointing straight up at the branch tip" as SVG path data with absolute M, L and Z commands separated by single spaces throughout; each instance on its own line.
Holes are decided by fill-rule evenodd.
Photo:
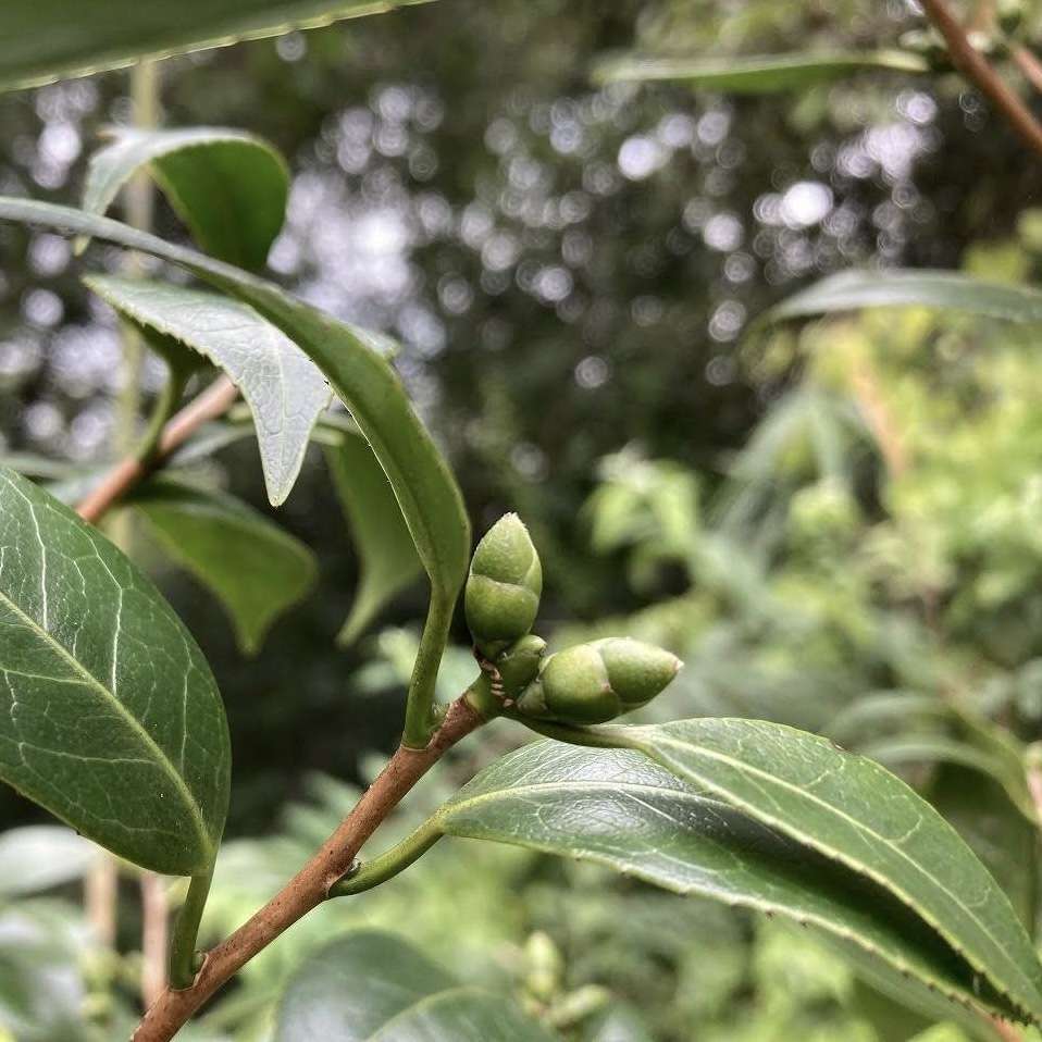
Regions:
M 477 544 L 463 594 L 467 624 L 487 658 L 532 629 L 543 593 L 543 566 L 516 513 L 501 517 Z

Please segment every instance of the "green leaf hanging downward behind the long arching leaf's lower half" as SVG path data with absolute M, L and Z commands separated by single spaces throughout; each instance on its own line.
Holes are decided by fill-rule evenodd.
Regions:
M 361 580 L 337 642 L 352 644 L 384 606 L 411 585 L 423 566 L 401 508 L 369 443 L 345 431 L 340 444 L 325 450 L 358 550 Z

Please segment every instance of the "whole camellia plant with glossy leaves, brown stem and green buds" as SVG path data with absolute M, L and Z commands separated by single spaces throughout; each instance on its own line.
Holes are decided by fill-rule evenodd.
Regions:
M 82 33 L 39 35 L 39 20 L 59 7 L 64 17 L 64 5 L 47 2 L 10 4 L 0 15 L 8 66 L 0 80 L 35 83 L 331 14 L 318 2 L 208 3 L 171 21 L 165 7 L 107 0 L 108 17 L 91 9 Z M 365 10 L 347 7 L 332 13 Z M 39 53 L 9 46 L 18 16 L 47 44 Z M 185 28 L 194 16 L 198 32 Z M 94 30 L 125 28 L 121 18 L 133 32 Z M 61 51 L 63 40 L 75 45 Z M 204 252 L 104 215 L 142 173 Z M 903 781 L 826 737 L 776 723 L 617 722 L 681 667 L 624 635 L 547 654 L 533 632 L 537 549 L 508 514 L 471 554 L 462 497 L 396 375 L 395 345 L 256 273 L 281 227 L 287 181 L 283 160 L 248 134 L 138 129 L 94 158 L 80 209 L 0 199 L 4 221 L 73 236 L 80 249 L 104 240 L 198 284 L 165 268 L 147 277 L 88 276 L 165 364 L 152 421 L 135 452 L 84 482 L 45 487 L 0 470 L 0 777 L 119 857 L 189 880 L 169 987 L 135 1040 L 173 1038 L 294 922 L 381 885 L 444 836 L 585 858 L 679 895 L 777 915 L 814 931 L 879 990 L 980 1038 L 1042 1024 L 1042 964 L 1025 927 L 955 830 Z M 894 302 L 902 293 L 1005 313 L 1039 305 L 1038 295 L 967 289 L 945 276 L 848 276 L 808 290 L 776 318 Z M 222 375 L 183 405 L 203 360 Z M 239 395 L 248 417 L 235 412 Z M 365 563 L 344 640 L 420 572 L 430 604 L 400 747 L 296 876 L 202 950 L 198 928 L 230 793 L 224 710 L 191 635 L 99 525 L 123 512 L 139 518 L 222 601 L 244 649 L 256 648 L 310 585 L 310 554 L 245 504 L 186 476 L 193 460 L 250 434 L 273 505 L 288 495 L 309 442 L 326 448 Z M 476 675 L 439 704 L 435 681 L 461 595 Z M 419 779 L 495 718 L 544 740 L 493 762 L 411 835 L 371 855 L 369 841 Z M 388 988 L 346 992 L 345 980 L 363 971 Z M 397 1033 L 381 1034 L 392 1019 Z M 275 1038 L 362 1037 L 553 1035 L 401 942 L 356 935 L 318 953 L 291 980 Z

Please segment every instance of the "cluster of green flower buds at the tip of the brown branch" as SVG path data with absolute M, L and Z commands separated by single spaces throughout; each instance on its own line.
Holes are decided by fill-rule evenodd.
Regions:
M 669 652 L 609 637 L 546 656 L 531 633 L 543 569 L 517 514 L 500 518 L 477 544 L 464 606 L 474 646 L 494 674 L 496 696 L 519 712 L 565 723 L 604 723 L 647 705 L 681 668 Z

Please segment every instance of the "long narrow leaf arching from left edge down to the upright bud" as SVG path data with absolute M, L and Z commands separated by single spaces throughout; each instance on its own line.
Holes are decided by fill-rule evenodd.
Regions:
M 451 471 L 385 358 L 385 337 L 339 322 L 255 275 L 108 218 L 0 197 L 0 220 L 91 235 L 179 264 L 256 308 L 293 339 L 328 379 L 390 481 L 441 605 L 442 632 L 432 642 L 444 646 L 449 609 L 470 565 L 470 522 Z

